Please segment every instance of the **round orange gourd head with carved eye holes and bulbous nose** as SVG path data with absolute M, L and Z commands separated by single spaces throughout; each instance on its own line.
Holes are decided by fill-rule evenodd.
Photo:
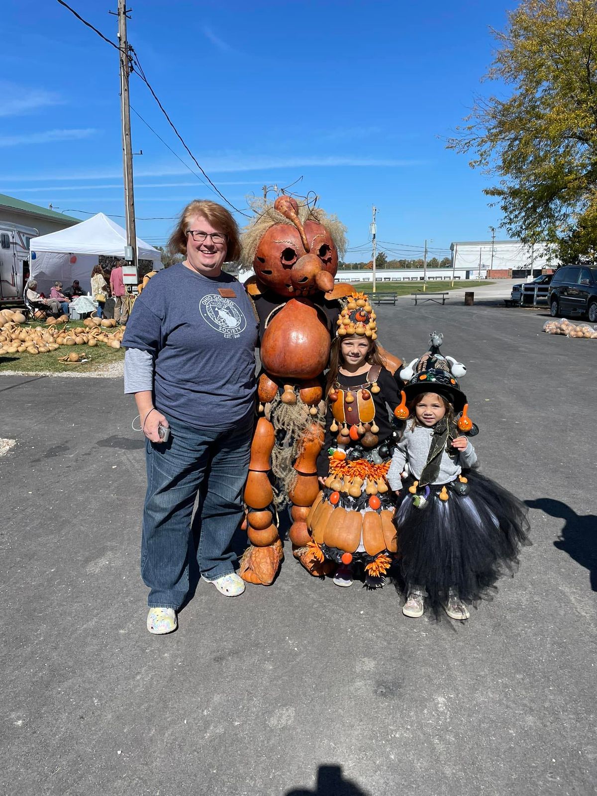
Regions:
M 331 290 L 338 271 L 338 250 L 322 224 L 304 224 L 310 252 L 305 251 L 298 229 L 274 224 L 259 240 L 253 267 L 259 282 L 284 298 Z M 324 276 L 323 273 L 329 274 Z

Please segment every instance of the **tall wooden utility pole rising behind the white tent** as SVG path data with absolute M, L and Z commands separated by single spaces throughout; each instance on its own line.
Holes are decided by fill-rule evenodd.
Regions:
M 128 76 L 132 69 L 128 57 L 127 2 L 118 0 L 118 38 L 120 44 L 120 115 L 123 125 L 124 212 L 127 218 L 127 253 L 137 270 L 137 232 L 135 228 L 135 194 L 133 191 L 133 148 L 131 146 L 131 106 L 128 97 Z

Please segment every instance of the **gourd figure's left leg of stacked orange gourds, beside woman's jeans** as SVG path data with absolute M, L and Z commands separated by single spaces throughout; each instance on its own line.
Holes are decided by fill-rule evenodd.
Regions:
M 273 583 L 284 557 L 271 512 L 274 494 L 268 473 L 274 441 L 274 427 L 265 417 L 260 417 L 253 436 L 251 462 L 244 487 L 244 502 L 248 509 L 247 535 L 251 544 L 240 560 L 239 574 L 248 583 L 260 583 L 263 586 Z

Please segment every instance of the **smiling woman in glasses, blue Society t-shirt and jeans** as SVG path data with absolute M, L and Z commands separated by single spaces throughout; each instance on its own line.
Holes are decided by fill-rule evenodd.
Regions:
M 222 271 L 240 256 L 236 222 L 213 201 L 192 201 L 169 245 L 185 260 L 150 280 L 123 338 L 125 392 L 135 393 L 147 438 L 141 573 L 154 634 L 178 626 L 193 537 L 201 577 L 229 597 L 244 591 L 228 546 L 242 516 L 255 392 L 252 304 Z

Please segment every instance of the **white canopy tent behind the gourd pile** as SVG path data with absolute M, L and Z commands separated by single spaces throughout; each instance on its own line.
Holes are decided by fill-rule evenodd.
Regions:
M 29 243 L 30 278 L 37 280 L 37 291 L 49 295 L 55 282 L 63 289 L 78 279 L 84 291 L 91 291 L 92 270 L 100 255 L 124 257 L 127 232 L 103 213 L 81 221 L 74 227 L 31 238 Z M 137 256 L 150 259 L 153 270 L 162 267 L 158 249 L 137 238 Z

